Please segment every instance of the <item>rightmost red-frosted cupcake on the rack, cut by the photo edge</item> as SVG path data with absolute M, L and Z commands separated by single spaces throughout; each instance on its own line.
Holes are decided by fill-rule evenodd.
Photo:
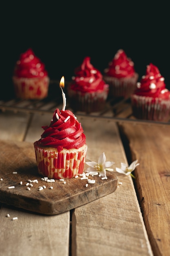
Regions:
M 131 95 L 134 117 L 152 121 L 170 119 L 170 91 L 166 89 L 164 80 L 155 65 L 147 65 L 145 76 Z

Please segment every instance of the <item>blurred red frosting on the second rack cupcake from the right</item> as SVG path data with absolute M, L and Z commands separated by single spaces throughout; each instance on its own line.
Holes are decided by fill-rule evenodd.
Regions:
M 104 73 L 116 78 L 131 77 L 135 74 L 134 63 L 126 56 L 124 50 L 119 49 Z

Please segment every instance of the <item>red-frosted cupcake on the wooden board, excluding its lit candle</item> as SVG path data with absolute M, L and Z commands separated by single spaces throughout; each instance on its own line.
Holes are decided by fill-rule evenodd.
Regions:
M 57 108 L 50 125 L 42 128 L 41 139 L 34 142 L 39 174 L 51 179 L 68 179 L 82 174 L 86 136 L 73 112 Z

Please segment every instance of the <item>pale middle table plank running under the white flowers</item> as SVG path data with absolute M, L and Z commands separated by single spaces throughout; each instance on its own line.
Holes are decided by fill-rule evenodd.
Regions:
M 97 161 L 105 152 L 106 161 L 115 162 L 114 169 L 127 162 L 114 122 L 79 121 L 86 134 L 88 159 Z M 73 211 L 72 255 L 152 255 L 132 179 L 116 174 L 122 185 L 115 193 Z

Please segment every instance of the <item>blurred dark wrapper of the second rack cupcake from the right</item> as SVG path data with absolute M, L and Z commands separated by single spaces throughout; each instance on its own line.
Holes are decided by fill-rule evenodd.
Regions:
M 132 77 L 121 79 L 104 76 L 104 80 L 109 85 L 109 96 L 129 98 L 136 89 L 138 77 L 137 73 Z

